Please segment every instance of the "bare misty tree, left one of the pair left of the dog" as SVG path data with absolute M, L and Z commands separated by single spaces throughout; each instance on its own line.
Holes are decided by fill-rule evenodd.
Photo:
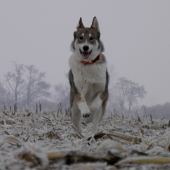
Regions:
M 14 94 L 14 100 L 16 102 L 16 106 L 19 102 L 19 99 L 22 96 L 23 85 L 24 85 L 24 66 L 23 64 L 17 64 L 14 62 L 14 70 L 13 72 L 8 72 L 5 75 L 5 80 L 7 83 L 7 87 Z

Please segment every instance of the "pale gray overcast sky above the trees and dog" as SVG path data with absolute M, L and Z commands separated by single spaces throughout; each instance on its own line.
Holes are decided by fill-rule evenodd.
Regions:
M 78 20 L 94 16 L 116 78 L 145 86 L 140 104 L 170 102 L 170 0 L 0 0 L 0 81 L 17 61 L 65 82 Z

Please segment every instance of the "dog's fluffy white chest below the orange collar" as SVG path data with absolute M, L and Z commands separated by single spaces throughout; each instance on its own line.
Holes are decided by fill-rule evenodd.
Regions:
M 70 67 L 74 83 L 78 90 L 104 90 L 106 84 L 106 64 L 84 65 L 74 58 L 70 58 Z

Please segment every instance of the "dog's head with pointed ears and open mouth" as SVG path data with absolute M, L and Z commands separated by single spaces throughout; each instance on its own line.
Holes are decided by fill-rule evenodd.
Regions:
M 74 32 L 74 40 L 71 44 L 71 51 L 79 61 L 94 60 L 104 47 L 100 41 L 100 30 L 97 18 L 94 17 L 90 28 L 85 28 L 80 18 L 77 31 Z

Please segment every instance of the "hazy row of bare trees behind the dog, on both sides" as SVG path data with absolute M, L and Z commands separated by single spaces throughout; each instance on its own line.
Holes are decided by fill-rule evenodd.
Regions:
M 112 78 L 112 72 L 110 72 Z M 45 72 L 34 65 L 13 62 L 13 70 L 4 75 L 0 82 L 0 105 L 4 104 L 34 109 L 36 102 L 41 102 L 44 109 L 57 109 L 62 101 L 63 108 L 69 105 L 69 83 L 50 85 L 45 80 Z M 116 108 L 120 112 L 130 113 L 138 100 L 146 96 L 144 86 L 125 77 L 109 84 L 109 101 L 107 110 Z

